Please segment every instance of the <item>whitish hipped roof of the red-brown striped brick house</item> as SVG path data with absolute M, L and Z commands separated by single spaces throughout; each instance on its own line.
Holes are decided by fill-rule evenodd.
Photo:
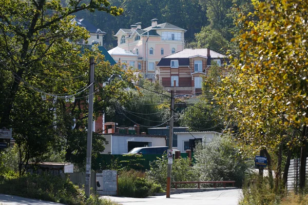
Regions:
M 226 58 L 227 56 L 217 53 L 215 51 L 210 50 L 209 51 L 210 57 L 211 58 Z M 201 49 L 191 49 L 191 48 L 186 48 L 182 51 L 176 52 L 174 54 L 165 56 L 163 58 L 190 58 L 194 56 L 201 56 L 201 57 L 206 57 L 207 58 L 207 49 L 206 48 L 201 48 Z

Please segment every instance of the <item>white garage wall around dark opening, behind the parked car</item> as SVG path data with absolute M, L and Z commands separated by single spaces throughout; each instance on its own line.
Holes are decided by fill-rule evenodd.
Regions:
M 112 138 L 112 144 L 111 144 L 112 153 L 111 154 L 127 153 L 128 152 L 128 141 L 152 142 L 152 147 L 166 146 L 165 137 L 111 135 L 111 138 Z

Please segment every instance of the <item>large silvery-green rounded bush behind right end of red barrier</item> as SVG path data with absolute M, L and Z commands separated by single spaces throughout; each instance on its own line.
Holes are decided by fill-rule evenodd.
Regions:
M 194 168 L 202 181 L 234 180 L 241 187 L 252 161 L 244 160 L 232 140 L 215 136 L 206 144 L 197 144 Z

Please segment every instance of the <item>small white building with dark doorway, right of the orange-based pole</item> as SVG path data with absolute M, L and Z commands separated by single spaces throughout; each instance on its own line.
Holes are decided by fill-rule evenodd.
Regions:
M 209 143 L 214 136 L 219 136 L 218 132 L 174 132 L 178 137 L 178 150 L 185 153 L 186 150 L 194 151 L 196 142 Z

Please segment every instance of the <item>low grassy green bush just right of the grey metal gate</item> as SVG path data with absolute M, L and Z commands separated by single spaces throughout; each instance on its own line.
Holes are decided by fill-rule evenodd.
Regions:
M 118 178 L 120 196 L 144 198 L 153 193 L 162 192 L 161 186 L 145 178 L 140 171 L 121 171 Z

